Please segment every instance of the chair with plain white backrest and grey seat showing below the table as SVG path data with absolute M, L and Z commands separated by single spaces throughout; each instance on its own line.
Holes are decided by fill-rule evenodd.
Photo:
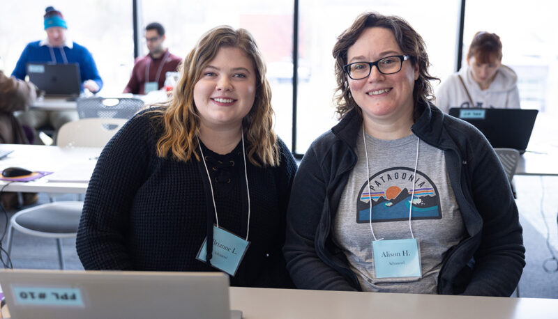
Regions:
M 103 147 L 126 121 L 125 118 L 84 118 L 68 122 L 60 127 L 57 142 L 61 147 Z M 107 126 L 112 129 L 107 129 Z M 75 238 L 82 209 L 82 201 L 60 201 L 15 213 L 8 224 L 8 254 L 12 250 L 14 230 L 32 236 L 56 238 L 58 262 L 63 270 L 61 239 Z

